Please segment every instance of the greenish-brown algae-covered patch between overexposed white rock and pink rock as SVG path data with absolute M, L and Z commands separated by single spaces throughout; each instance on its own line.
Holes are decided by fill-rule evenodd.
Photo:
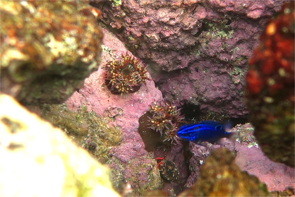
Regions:
M 118 128 L 110 128 L 107 124 L 108 118 L 87 111 L 85 106 L 71 111 L 66 104 L 44 104 L 41 110 L 44 119 L 62 129 L 99 162 L 110 163 L 110 150 L 120 144 L 121 131 Z

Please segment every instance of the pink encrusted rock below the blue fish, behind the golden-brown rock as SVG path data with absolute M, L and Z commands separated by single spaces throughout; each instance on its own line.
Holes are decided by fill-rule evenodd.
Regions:
M 238 132 L 239 138 L 234 143 L 226 140 L 224 146 L 207 143 L 207 148 L 190 142 L 189 149 L 193 156 L 190 159 L 191 174 L 185 187 L 191 187 L 195 183 L 202 173 L 203 163 L 211 152 L 225 147 L 235 154 L 236 165 L 265 183 L 268 191 L 281 192 L 287 187 L 294 188 L 295 169 L 285 164 L 275 163 L 264 155 L 253 136 L 254 128 L 251 124 L 237 125 L 232 131 Z

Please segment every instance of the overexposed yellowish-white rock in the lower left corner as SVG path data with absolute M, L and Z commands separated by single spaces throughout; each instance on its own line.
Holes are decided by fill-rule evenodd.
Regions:
M 119 197 L 109 168 L 15 99 L 0 96 L 1 197 Z

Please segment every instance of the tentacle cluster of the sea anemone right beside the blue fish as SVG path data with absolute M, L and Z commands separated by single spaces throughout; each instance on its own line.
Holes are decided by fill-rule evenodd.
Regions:
M 161 135 L 164 136 L 164 141 L 171 140 L 173 143 L 177 140 L 178 136 L 176 134 L 179 123 L 182 123 L 184 117 L 180 115 L 180 109 L 176 106 L 168 104 L 166 101 L 158 105 L 154 102 L 154 105 L 149 106 L 149 112 L 152 114 L 152 118 L 149 118 L 150 127 L 152 130 L 159 131 Z

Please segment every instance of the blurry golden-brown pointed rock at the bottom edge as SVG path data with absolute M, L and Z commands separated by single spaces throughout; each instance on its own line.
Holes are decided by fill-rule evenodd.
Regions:
M 196 183 L 180 197 L 187 196 L 267 196 L 266 185 L 255 176 L 242 172 L 233 153 L 225 148 L 214 150 L 201 166 Z

